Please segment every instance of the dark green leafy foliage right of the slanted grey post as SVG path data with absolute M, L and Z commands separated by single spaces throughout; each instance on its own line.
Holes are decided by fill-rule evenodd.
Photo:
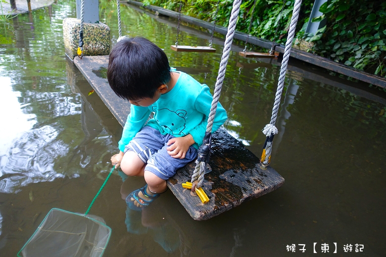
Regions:
M 315 35 L 316 54 L 356 69 L 386 77 L 386 2 L 328 0 L 319 9 L 327 25 Z

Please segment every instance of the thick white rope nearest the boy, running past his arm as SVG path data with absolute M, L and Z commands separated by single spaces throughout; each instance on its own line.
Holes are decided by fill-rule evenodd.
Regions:
M 231 52 L 233 37 L 235 35 L 235 29 L 236 29 L 237 19 L 239 16 L 240 5 L 241 5 L 241 0 L 235 0 L 233 2 L 231 18 L 229 20 L 227 36 L 225 37 L 224 50 L 223 50 L 223 55 L 221 57 L 220 68 L 218 71 L 216 86 L 213 94 L 213 101 L 212 101 L 209 118 L 208 118 L 208 125 L 206 126 L 206 132 L 212 132 L 213 120 L 214 120 L 214 116 L 216 115 L 217 104 L 220 98 L 221 88 L 223 86 L 223 82 L 225 78 L 225 71 L 227 70 L 227 63 L 229 59 L 229 54 Z M 194 188 L 198 188 L 202 185 L 202 182 L 204 180 L 204 172 L 205 172 L 205 162 L 196 162 L 196 167 L 192 175 L 192 184 L 193 184 L 192 191 L 194 191 Z M 196 184 L 193 183 L 196 180 L 197 180 Z

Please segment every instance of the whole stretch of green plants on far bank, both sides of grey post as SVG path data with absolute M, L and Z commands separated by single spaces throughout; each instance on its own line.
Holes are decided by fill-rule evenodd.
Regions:
M 253 3 L 241 3 L 237 30 L 247 33 Z M 178 11 L 180 0 L 142 0 L 145 4 Z M 303 0 L 296 27 L 297 42 L 313 52 L 356 69 L 386 77 L 386 1 L 328 0 L 320 11 L 327 24 L 316 35 L 305 34 L 314 0 Z M 256 0 L 250 34 L 285 43 L 294 0 Z M 215 20 L 217 0 L 182 0 L 182 13 L 205 21 Z M 227 27 L 233 0 L 220 0 L 217 24 Z M 296 46 L 295 46 L 296 47 Z M 298 46 L 297 46 L 298 47 Z

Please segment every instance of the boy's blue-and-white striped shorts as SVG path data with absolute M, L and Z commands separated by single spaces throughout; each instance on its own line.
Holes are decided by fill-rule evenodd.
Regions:
M 184 167 L 197 156 L 197 150 L 190 146 L 184 159 L 171 157 L 166 148 L 167 142 L 174 138 L 170 134 L 163 135 L 158 129 L 145 126 L 125 147 L 124 153 L 133 151 L 146 164 L 145 171 L 167 180 L 176 174 L 177 169 Z

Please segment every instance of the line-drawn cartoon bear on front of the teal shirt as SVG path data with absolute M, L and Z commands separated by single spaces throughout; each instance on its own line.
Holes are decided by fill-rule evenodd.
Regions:
M 157 110 L 157 107 L 153 106 L 153 112 L 156 113 L 154 116 L 155 120 L 158 122 L 158 124 L 167 131 L 168 134 L 170 135 L 185 135 L 183 130 L 185 129 L 186 125 L 186 114 L 187 112 L 185 110 L 177 110 L 177 111 L 171 111 L 168 108 L 162 108 Z M 159 121 L 157 120 L 157 115 L 162 116 L 169 116 L 173 117 L 170 119 L 170 122 L 167 124 L 160 124 Z M 173 132 L 174 131 L 174 132 Z

